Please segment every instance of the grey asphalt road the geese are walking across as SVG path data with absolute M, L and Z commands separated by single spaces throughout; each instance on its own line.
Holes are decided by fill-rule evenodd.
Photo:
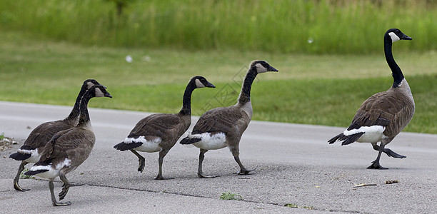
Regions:
M 92 100 L 91 100 L 92 102 Z M 255 168 L 236 175 L 238 165 L 227 148 L 206 153 L 204 173 L 196 175 L 199 149 L 179 143 L 164 158 L 163 175 L 154 180 L 158 153 L 146 158 L 144 173 L 129 151 L 112 148 L 149 113 L 90 109 L 96 145 L 91 156 L 67 177 L 68 207 L 51 205 L 46 180 L 22 179 L 13 188 L 19 161 L 9 158 L 31 129 L 68 115 L 70 107 L 0 101 L 0 133 L 20 142 L 0 152 L 1 213 L 436 213 L 437 135 L 401 133 L 387 147 L 407 156 L 381 156 L 388 170 L 368 170 L 376 158 L 369 143 L 328 145 L 343 128 L 252 121 L 240 143 L 241 162 Z M 254 112 L 256 113 L 256 112 Z M 194 117 L 194 122 L 196 118 Z M 29 127 L 30 128 L 29 128 Z M 31 164 L 27 165 L 28 168 Z M 55 194 L 61 191 L 59 179 Z M 385 184 L 386 180 L 398 183 Z M 376 184 L 353 188 L 360 183 Z M 222 193 L 242 200 L 221 200 Z M 293 204 L 298 208 L 289 208 Z

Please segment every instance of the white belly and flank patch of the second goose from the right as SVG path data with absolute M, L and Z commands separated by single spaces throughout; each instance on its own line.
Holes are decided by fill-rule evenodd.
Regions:
M 195 135 L 189 135 L 190 138 L 201 138 L 201 141 L 193 143 L 197 148 L 203 148 L 207 150 L 214 150 L 225 148 L 228 146 L 226 144 L 226 136 L 224 133 L 216 133 L 212 135 L 210 133 L 201 133 Z

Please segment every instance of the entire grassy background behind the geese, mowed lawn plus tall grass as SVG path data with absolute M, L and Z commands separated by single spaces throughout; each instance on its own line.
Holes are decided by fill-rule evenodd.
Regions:
M 174 113 L 201 75 L 217 88 L 194 91 L 199 116 L 235 103 L 265 59 L 279 72 L 253 84 L 253 119 L 346 127 L 393 82 L 383 34 L 396 27 L 413 37 L 393 45 L 416 101 L 406 131 L 437 133 L 436 1 L 114 2 L 0 1 L 0 100 L 72 106 L 96 78 L 114 99 L 90 106 Z

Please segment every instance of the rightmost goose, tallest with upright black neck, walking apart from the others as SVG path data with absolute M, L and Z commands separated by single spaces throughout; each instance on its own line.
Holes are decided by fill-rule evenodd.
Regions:
M 393 86 L 364 101 L 353 117 L 351 126 L 328 141 L 330 144 L 337 140 L 343 141 L 341 145 L 348 145 L 355 141 L 372 143 L 373 149 L 378 151 L 378 157 L 372 165 L 368 166 L 372 169 L 387 169 L 379 164 L 381 153 L 386 153 L 393 158 L 406 158 L 384 148 L 411 121 L 415 108 L 410 86 L 391 54 L 393 42 L 399 40 L 411 40 L 411 38 L 399 29 L 389 29 L 384 36 L 384 52 L 388 66 L 391 68 Z M 378 141 L 381 141 L 379 146 L 376 144 Z

